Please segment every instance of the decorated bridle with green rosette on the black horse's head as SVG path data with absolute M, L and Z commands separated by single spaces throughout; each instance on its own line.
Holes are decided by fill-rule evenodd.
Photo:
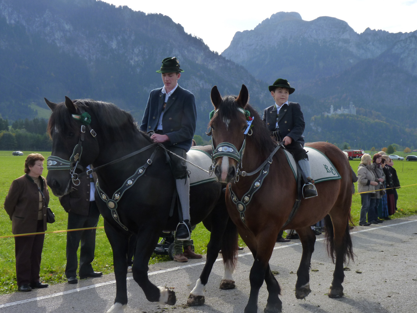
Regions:
M 75 173 L 75 169 L 81 169 L 82 171 L 84 168 L 79 164 L 81 159 L 81 154 L 83 153 L 83 141 L 85 136 L 85 126 L 90 129 L 90 134 L 93 136 L 94 139 L 97 135 L 94 129 L 91 128 L 91 116 L 88 112 L 85 112 L 83 108 L 79 108 L 81 114 L 72 114 L 72 117 L 81 122 L 81 133 L 80 139 L 78 139 L 78 144 L 75 145 L 73 149 L 73 154 L 70 156 L 70 160 L 61 159 L 58 156 L 48 156 L 46 160 L 46 168 L 48 171 L 58 170 L 58 169 L 69 169 L 71 174 L 71 180 L 75 186 L 80 184 L 80 179 L 78 179 L 77 173 Z M 97 140 L 97 139 L 96 139 Z M 88 174 L 88 173 L 87 173 Z

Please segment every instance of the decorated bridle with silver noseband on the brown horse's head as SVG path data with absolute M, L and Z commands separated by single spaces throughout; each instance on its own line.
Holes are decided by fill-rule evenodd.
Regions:
M 211 176 L 214 172 L 214 167 L 216 166 L 216 159 L 221 157 L 221 156 L 227 156 L 229 158 L 235 159 L 237 161 L 237 171 L 236 171 L 236 176 L 234 178 L 235 182 L 239 182 L 239 173 L 242 174 L 242 176 L 245 176 L 245 172 L 239 171 L 239 169 L 242 168 L 242 159 L 243 159 L 243 154 L 245 152 L 245 146 L 246 146 L 246 135 L 251 136 L 252 134 L 252 130 L 251 130 L 251 125 L 252 125 L 252 121 L 253 121 L 253 117 L 250 117 L 250 112 L 248 110 L 244 110 L 240 107 L 237 108 L 239 110 L 239 112 L 243 113 L 246 117 L 246 123 L 247 123 L 247 127 L 246 130 L 244 132 L 245 138 L 243 140 L 242 143 L 242 147 L 240 148 L 240 150 L 238 150 L 236 148 L 236 146 L 234 146 L 233 144 L 231 144 L 230 142 L 221 142 L 220 144 L 218 144 L 216 146 L 216 148 L 214 148 L 213 145 L 213 137 L 211 137 L 211 149 L 213 151 L 211 159 L 213 160 L 213 163 L 210 165 L 209 168 L 209 175 Z M 219 109 L 217 110 L 213 110 L 210 112 L 210 119 L 213 118 L 214 114 L 219 111 Z M 250 131 L 250 134 L 248 134 Z M 211 133 L 211 131 L 210 131 Z M 209 133 L 209 134 L 210 134 Z

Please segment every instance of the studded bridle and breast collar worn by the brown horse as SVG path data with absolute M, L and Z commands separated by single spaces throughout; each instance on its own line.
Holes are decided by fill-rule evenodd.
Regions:
M 216 165 L 216 159 L 220 156 L 228 156 L 228 157 L 231 157 L 232 159 L 235 159 L 238 162 L 238 164 L 237 164 L 237 169 L 238 170 L 236 171 L 236 176 L 234 178 L 234 182 L 239 182 L 239 176 L 240 175 L 241 176 L 252 176 L 252 175 L 258 173 L 259 171 L 261 171 L 259 173 L 258 177 L 254 180 L 254 182 L 252 182 L 251 187 L 249 188 L 248 192 L 246 192 L 243 195 L 242 199 L 240 199 L 240 200 L 236 196 L 236 194 L 233 192 L 231 184 L 229 184 L 229 186 L 228 186 L 231 200 L 236 205 L 236 209 L 238 210 L 238 212 L 240 214 L 241 221 L 245 224 L 246 207 L 251 202 L 251 200 L 254 196 L 254 193 L 257 192 L 261 188 L 262 183 L 264 182 L 266 176 L 269 174 L 269 167 L 272 163 L 272 158 L 273 158 L 274 154 L 283 145 L 282 145 L 282 142 L 280 142 L 275 147 L 274 151 L 272 151 L 271 154 L 269 154 L 268 158 L 266 158 L 266 160 L 257 169 L 255 169 L 253 172 L 246 173 L 245 171 L 241 171 L 242 159 L 243 159 L 243 154 L 244 154 L 245 146 L 246 146 L 246 134 L 248 134 L 248 131 L 250 130 L 251 133 L 248 134 L 248 135 L 251 136 L 251 134 L 252 134 L 251 124 L 252 124 L 252 121 L 253 121 L 254 118 L 253 117 L 250 118 L 249 111 L 241 109 L 239 107 L 238 107 L 238 110 L 241 113 L 245 114 L 247 124 L 248 124 L 248 127 L 246 128 L 246 131 L 244 132 L 245 138 L 243 140 L 242 147 L 238 151 L 233 144 L 231 144 L 229 142 L 222 142 L 222 143 L 220 143 L 216 146 L 216 149 L 214 149 L 213 137 L 212 137 L 211 138 L 211 148 L 213 150 L 213 154 L 211 156 L 211 159 L 213 160 L 213 164 L 211 164 L 211 166 L 210 166 L 210 176 L 214 172 L 214 167 Z M 216 113 L 217 111 L 219 111 L 219 109 L 217 109 L 216 111 L 214 111 L 214 110 L 211 111 L 210 119 L 213 118 L 214 113 Z M 208 135 L 211 135 L 211 131 L 208 133 Z

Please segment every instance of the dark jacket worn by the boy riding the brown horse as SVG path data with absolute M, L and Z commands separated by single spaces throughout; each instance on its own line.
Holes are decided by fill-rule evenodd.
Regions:
M 274 131 L 275 129 L 276 114 L 275 104 L 264 110 L 262 121 L 269 131 Z M 278 126 L 282 138 L 289 136 L 293 141 L 299 142 L 304 146 L 303 132 L 305 125 L 306 123 L 304 122 L 304 115 L 303 112 L 301 112 L 300 103 L 288 102 L 288 105 L 281 106 L 281 109 L 279 110 Z

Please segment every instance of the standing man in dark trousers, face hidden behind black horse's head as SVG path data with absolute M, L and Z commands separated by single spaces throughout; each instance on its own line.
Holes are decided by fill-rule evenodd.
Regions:
M 90 166 L 87 169 L 90 169 Z M 74 186 L 72 192 L 59 197 L 61 205 L 68 212 L 68 230 L 97 227 L 100 212 L 98 212 L 94 199 L 96 180 L 97 177 L 93 178 L 91 174 L 80 178 L 80 184 Z M 67 265 L 65 267 L 65 276 L 69 284 L 78 283 L 77 250 L 80 241 L 80 279 L 103 275 L 102 272 L 95 272 L 91 266 L 91 262 L 94 260 L 95 229 L 70 231 L 67 232 Z

